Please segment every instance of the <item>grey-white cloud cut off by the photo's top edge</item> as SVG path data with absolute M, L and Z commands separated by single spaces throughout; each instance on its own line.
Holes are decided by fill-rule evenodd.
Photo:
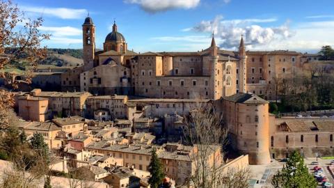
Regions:
M 149 13 L 157 13 L 175 8 L 196 8 L 200 0 L 123 0 L 125 3 L 139 4 L 143 10 Z

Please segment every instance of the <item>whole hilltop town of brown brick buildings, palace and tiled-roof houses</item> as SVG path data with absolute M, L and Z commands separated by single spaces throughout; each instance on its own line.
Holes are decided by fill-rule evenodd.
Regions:
M 166 182 L 186 187 L 207 144 L 189 144 L 186 129 L 202 111 L 229 127 L 228 143 L 205 145 L 205 163 L 219 171 L 270 166 L 292 150 L 334 156 L 333 105 L 313 114 L 307 111 L 321 102 L 305 102 L 300 113 L 276 109 L 286 96 L 308 91 L 292 87 L 297 78 L 333 74 L 334 61 L 289 50 L 248 51 L 243 36 L 235 52 L 218 47 L 212 35 L 198 52 L 137 53 L 116 22 L 104 49 L 95 51 L 98 28 L 93 17 L 83 21 L 83 65 L 37 65 L 31 84 L 17 71 L 0 81 L 13 93 L 19 131 L 27 140 L 42 135 L 59 185 L 67 181 L 59 174 L 79 171 L 93 187 L 150 187 L 154 150 Z M 13 83 L 17 88 L 8 87 Z

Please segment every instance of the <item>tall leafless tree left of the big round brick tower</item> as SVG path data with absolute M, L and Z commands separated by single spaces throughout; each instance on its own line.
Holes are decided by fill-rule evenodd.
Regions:
M 184 128 L 186 145 L 195 148 L 191 160 L 191 172 L 186 171 L 189 186 L 196 188 L 216 188 L 230 185 L 227 176 L 238 176 L 240 182 L 248 182 L 248 171 L 223 170 L 223 146 L 228 143 L 229 125 L 223 123 L 221 113 L 214 111 L 212 103 L 198 103 Z M 185 167 L 185 166 L 184 166 Z M 189 169 L 189 166 L 188 166 Z M 224 180 L 225 178 L 225 180 Z M 237 183 L 237 182 L 236 182 Z

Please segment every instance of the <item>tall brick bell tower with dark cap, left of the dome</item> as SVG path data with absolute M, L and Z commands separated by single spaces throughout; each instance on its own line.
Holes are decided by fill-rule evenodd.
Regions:
M 84 70 L 89 70 L 94 66 L 95 54 L 95 25 L 93 19 L 88 16 L 82 24 L 82 40 L 84 53 Z

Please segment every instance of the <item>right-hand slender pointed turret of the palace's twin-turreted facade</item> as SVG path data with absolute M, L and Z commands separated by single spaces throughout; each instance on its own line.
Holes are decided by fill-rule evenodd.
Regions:
M 246 56 L 246 47 L 244 43 L 244 37 L 241 36 L 240 45 L 239 45 L 239 92 L 247 93 L 247 56 Z

